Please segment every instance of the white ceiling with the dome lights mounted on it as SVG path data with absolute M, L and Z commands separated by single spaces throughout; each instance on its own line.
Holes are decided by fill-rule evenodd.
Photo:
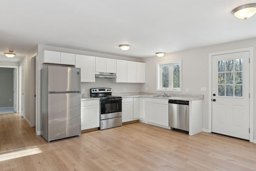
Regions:
M 145 58 L 256 37 L 256 15 L 231 11 L 256 0 L 4 0 L 0 61 L 37 44 Z M 124 52 L 119 44 L 130 44 Z M 14 58 L 4 52 L 14 50 Z

